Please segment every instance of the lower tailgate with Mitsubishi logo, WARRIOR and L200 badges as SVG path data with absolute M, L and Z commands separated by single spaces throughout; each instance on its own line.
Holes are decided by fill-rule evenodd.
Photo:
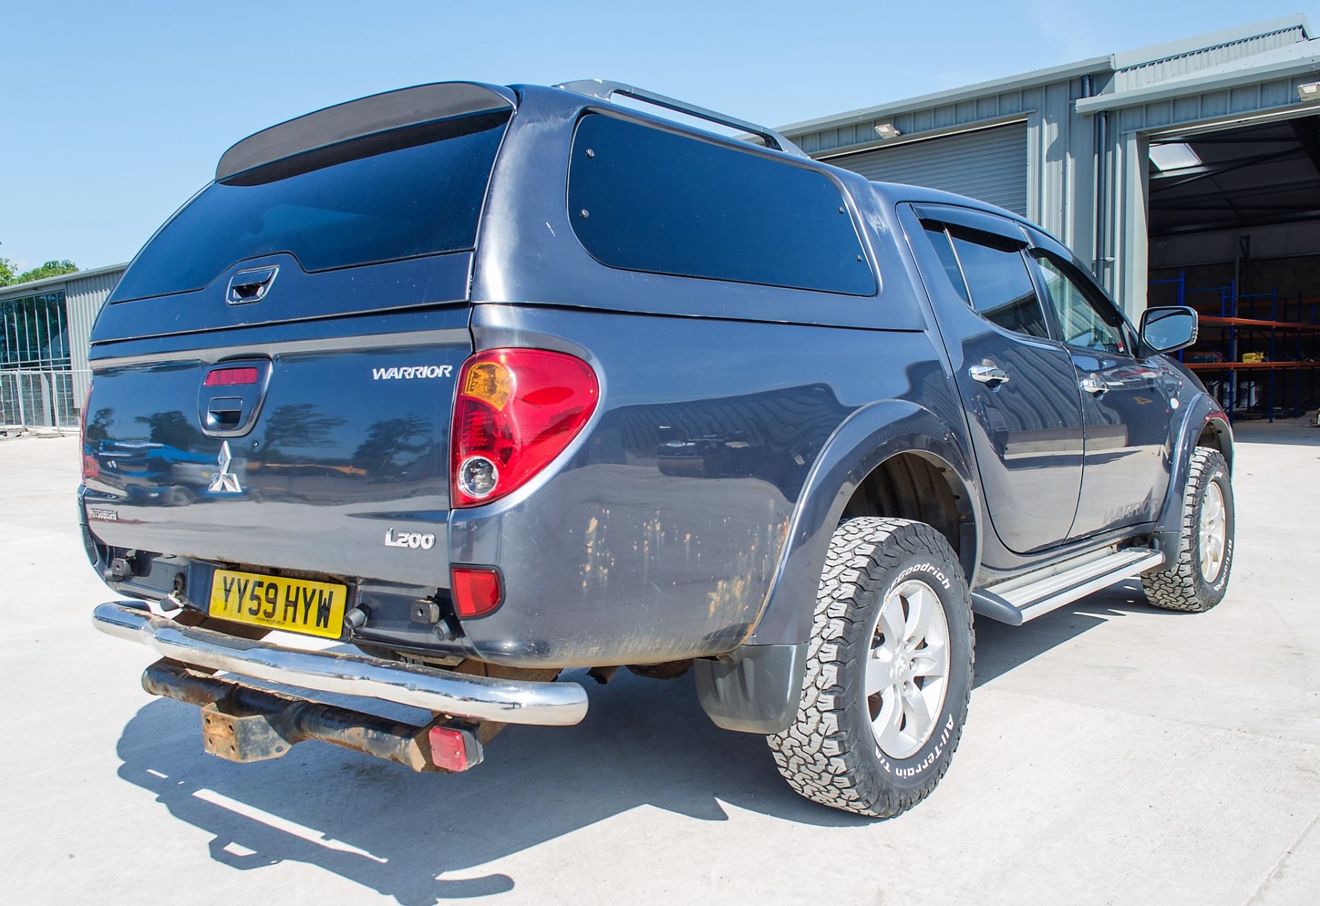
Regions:
M 374 321 L 380 333 L 305 341 L 267 328 L 249 343 L 99 368 L 83 449 L 92 534 L 120 548 L 447 586 L 449 420 L 471 350 L 467 306 Z M 206 384 L 246 368 L 259 384 Z M 209 424 L 215 409 L 251 428 Z M 416 545 L 397 545 L 413 534 Z

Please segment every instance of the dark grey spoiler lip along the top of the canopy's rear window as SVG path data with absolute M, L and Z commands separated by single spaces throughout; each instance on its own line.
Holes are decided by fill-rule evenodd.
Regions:
M 249 135 L 220 155 L 215 181 L 230 180 L 260 166 L 354 139 L 454 116 L 516 108 L 517 95 L 503 85 L 432 82 L 381 91 L 323 107 Z

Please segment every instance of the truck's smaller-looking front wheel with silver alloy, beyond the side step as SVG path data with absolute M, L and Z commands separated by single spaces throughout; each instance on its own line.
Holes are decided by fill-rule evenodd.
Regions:
M 1142 573 L 1156 608 L 1201 613 L 1224 600 L 1233 569 L 1233 483 L 1220 452 L 1197 446 L 1187 471 L 1177 559 Z

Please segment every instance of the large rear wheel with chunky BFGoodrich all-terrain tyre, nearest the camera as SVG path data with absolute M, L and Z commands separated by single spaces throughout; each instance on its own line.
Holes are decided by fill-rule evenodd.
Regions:
M 849 519 L 816 597 L 801 704 L 766 737 L 797 792 L 891 818 L 935 788 L 972 696 L 972 600 L 940 532 Z

